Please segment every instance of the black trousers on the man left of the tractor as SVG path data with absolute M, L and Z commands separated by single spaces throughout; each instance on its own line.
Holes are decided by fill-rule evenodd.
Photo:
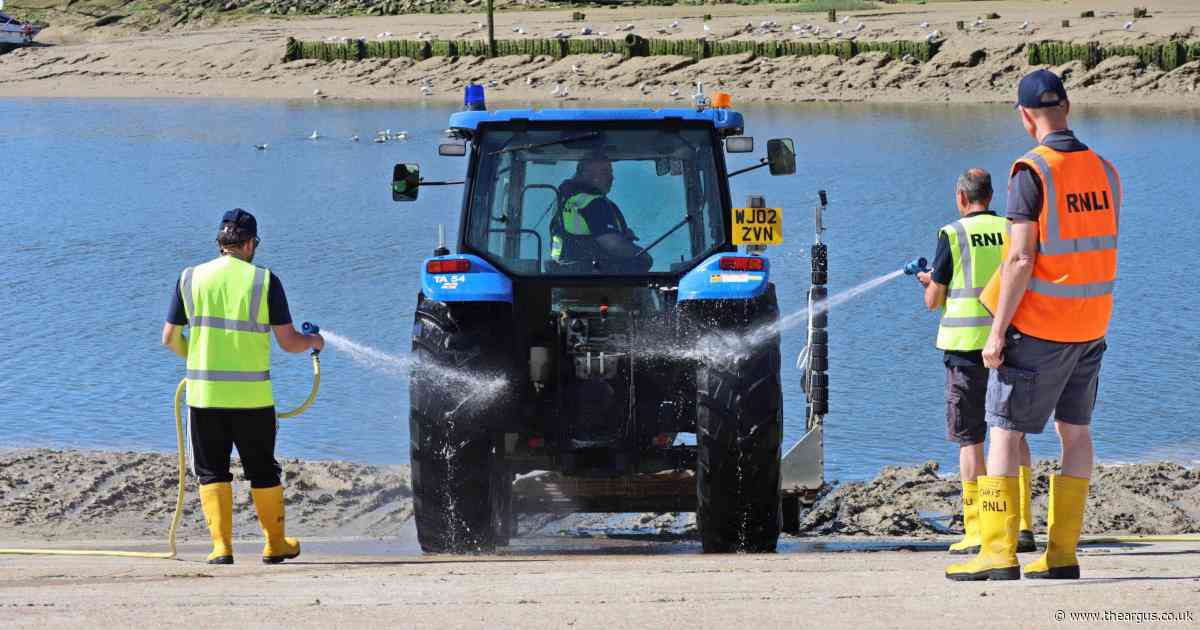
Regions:
M 262 409 L 199 409 L 188 407 L 192 420 L 192 461 L 200 485 L 233 481 L 229 456 L 234 445 L 252 488 L 280 485 L 275 461 L 275 407 Z

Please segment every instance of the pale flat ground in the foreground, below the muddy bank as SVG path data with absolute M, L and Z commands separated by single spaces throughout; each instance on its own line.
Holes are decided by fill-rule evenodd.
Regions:
M 1079 581 L 956 583 L 941 552 L 649 553 L 550 545 L 500 557 L 365 556 L 311 545 L 239 564 L 0 556 L 6 626 L 204 628 L 1046 628 L 1056 614 L 1200 614 L 1200 546 L 1090 547 Z M 306 547 L 308 550 L 308 547 Z M 1032 560 L 1026 554 L 1025 562 Z M 1058 611 L 1063 611 L 1060 613 Z

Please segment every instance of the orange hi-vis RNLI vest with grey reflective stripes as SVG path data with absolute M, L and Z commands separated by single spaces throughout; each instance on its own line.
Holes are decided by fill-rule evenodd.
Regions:
M 1112 316 L 1121 180 L 1096 152 L 1038 146 L 1013 164 L 1042 180 L 1038 257 L 1013 325 L 1050 341 L 1103 337 Z

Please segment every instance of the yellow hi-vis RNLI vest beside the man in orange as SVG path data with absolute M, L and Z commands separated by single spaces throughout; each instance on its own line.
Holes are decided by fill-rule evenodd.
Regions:
M 979 350 L 988 341 L 991 316 L 979 302 L 983 286 L 1000 268 L 1007 221 L 996 215 L 964 217 L 941 232 L 950 245 L 950 277 L 937 347 L 943 350 Z

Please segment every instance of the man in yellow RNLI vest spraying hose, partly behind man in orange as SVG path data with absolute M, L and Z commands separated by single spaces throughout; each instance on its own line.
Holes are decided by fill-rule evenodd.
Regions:
M 991 316 L 979 302 L 984 284 L 1000 268 L 1007 221 L 991 204 L 991 175 L 972 168 L 959 176 L 955 203 L 961 218 L 937 232 L 934 269 L 917 275 L 925 287 L 925 306 L 943 308 L 937 329 L 937 348 L 946 364 L 946 437 L 959 444 L 959 478 L 962 481 L 962 540 L 950 553 L 979 552 L 979 488 L 976 480 L 988 474 L 983 443 L 988 436 L 985 402 L 988 368 L 983 347 L 991 330 Z M 1030 515 L 1030 445 L 1021 444 L 1021 524 L 1018 551 L 1037 551 Z

